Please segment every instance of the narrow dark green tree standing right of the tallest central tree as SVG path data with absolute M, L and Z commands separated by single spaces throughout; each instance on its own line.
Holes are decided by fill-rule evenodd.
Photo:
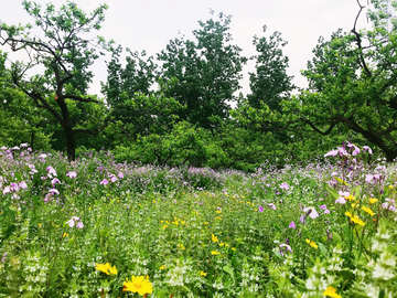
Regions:
M 264 25 L 266 32 L 266 25 Z M 256 73 L 249 73 L 248 103 L 255 108 L 264 102 L 272 110 L 280 110 L 280 102 L 290 96 L 294 88 L 291 83 L 293 76 L 287 74 L 288 57 L 283 56 L 282 47 L 287 42 L 281 39 L 281 33 L 273 32 L 269 40 L 254 36 L 254 45 L 258 52 L 256 58 Z

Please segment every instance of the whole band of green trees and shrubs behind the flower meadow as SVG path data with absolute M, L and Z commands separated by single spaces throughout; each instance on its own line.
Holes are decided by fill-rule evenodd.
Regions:
M 372 3 L 372 28 L 320 39 L 302 72 L 305 89 L 287 74 L 287 41 L 264 26 L 264 35 L 253 40 L 250 93 L 237 96 L 248 57 L 233 44 L 229 15 L 212 11 L 192 40 L 176 38 L 147 56 L 84 38 L 100 29 L 107 6 L 88 15 L 73 2 L 56 11 L 23 1 L 34 24 L 0 23 L 0 145 L 29 142 L 66 151 L 69 160 L 76 148 L 106 148 L 120 161 L 255 171 L 267 162 L 305 164 L 350 140 L 375 146 L 391 161 L 397 30 L 384 13 L 386 0 Z M 357 19 L 362 9 L 358 2 Z M 26 50 L 31 61 L 6 64 L 10 50 Z M 104 52 L 110 56 L 100 98 L 87 89 L 89 66 Z

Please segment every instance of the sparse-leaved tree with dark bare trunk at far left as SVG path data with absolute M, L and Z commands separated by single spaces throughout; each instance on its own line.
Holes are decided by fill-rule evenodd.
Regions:
M 0 23 L 0 44 L 9 45 L 13 52 L 25 51 L 26 63 L 12 62 L 11 83 L 23 91 L 36 107 L 50 111 L 65 134 L 67 158 L 75 159 L 75 134 L 98 134 L 99 126 L 81 127 L 71 117 L 71 105 L 78 108 L 84 105 L 101 104 L 100 100 L 87 96 L 93 73 L 88 70 L 98 57 L 97 49 L 105 46 L 101 38 L 88 39 L 87 34 L 100 29 L 107 6 L 100 6 L 88 17 L 74 2 L 62 6 L 55 12 L 53 4 L 42 10 L 39 4 L 23 1 L 25 11 L 34 19 L 34 25 L 7 25 Z M 39 30 L 42 36 L 32 36 Z M 28 72 L 42 74 L 28 76 Z M 77 104 L 76 104 L 77 103 Z M 85 118 L 85 121 L 87 118 Z M 95 121 L 95 119 L 93 119 Z

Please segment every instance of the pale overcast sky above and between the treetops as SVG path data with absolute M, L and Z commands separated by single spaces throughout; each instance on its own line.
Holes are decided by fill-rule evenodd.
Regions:
M 36 0 L 45 8 L 46 0 Z M 51 1 L 58 8 L 64 0 Z M 230 33 L 233 44 L 243 49 L 246 56 L 254 55 L 253 36 L 264 36 L 262 26 L 267 25 L 266 35 L 273 31 L 281 32 L 288 41 L 285 55 L 289 57 L 289 75 L 293 83 L 305 87 L 305 78 L 300 70 L 305 68 L 312 58 L 312 49 L 319 36 L 329 39 L 331 33 L 342 28 L 350 31 L 358 12 L 356 0 L 76 0 L 85 12 L 92 12 L 100 3 L 107 3 L 106 19 L 99 35 L 115 40 L 124 47 L 132 51 L 146 50 L 154 55 L 163 50 L 170 40 L 184 34 L 192 39 L 192 30 L 198 29 L 198 20 L 211 18 L 210 9 L 215 13 L 232 14 Z M 366 0 L 361 0 L 367 4 Z M 22 8 L 21 0 L 0 0 L 0 20 L 7 24 L 32 22 Z M 358 26 L 368 26 L 365 15 L 360 19 Z M 181 34 L 179 34 L 179 32 Z M 4 49 L 2 49 L 4 50 Z M 97 61 L 94 66 L 95 78 L 93 93 L 99 94 L 100 81 L 106 81 L 106 65 Z M 254 72 L 254 63 L 244 68 L 242 81 L 244 94 L 249 93 L 248 72 Z

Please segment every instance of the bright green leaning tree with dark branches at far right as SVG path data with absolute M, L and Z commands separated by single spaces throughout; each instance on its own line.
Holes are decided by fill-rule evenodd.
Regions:
M 397 23 L 387 30 L 386 0 L 371 1 L 371 30 L 339 30 L 320 39 L 314 57 L 302 74 L 309 88 L 288 103 L 312 130 L 330 134 L 344 126 L 377 146 L 388 161 L 397 157 Z M 288 106 L 287 105 L 287 106 Z M 286 107 L 287 107 L 286 106 Z

